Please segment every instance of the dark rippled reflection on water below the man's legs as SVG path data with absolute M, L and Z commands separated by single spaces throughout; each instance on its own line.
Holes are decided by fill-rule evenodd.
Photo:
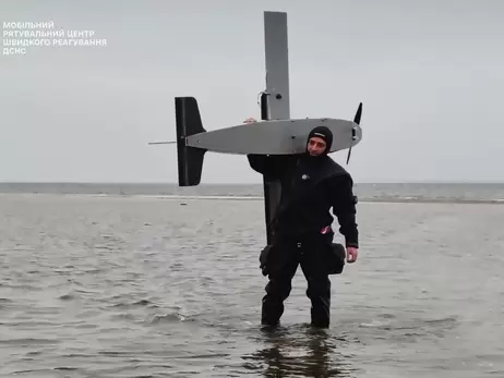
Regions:
M 346 340 L 310 326 L 263 328 L 264 347 L 243 356 L 247 369 L 264 377 L 352 377 L 348 357 L 338 352 Z

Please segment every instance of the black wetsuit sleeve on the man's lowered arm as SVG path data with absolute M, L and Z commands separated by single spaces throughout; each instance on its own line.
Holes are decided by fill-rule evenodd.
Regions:
M 336 176 L 331 182 L 333 214 L 338 219 L 339 232 L 345 236 L 347 247 L 359 247 L 359 231 L 356 223 L 357 197 L 353 195 L 353 180 L 350 175 Z

